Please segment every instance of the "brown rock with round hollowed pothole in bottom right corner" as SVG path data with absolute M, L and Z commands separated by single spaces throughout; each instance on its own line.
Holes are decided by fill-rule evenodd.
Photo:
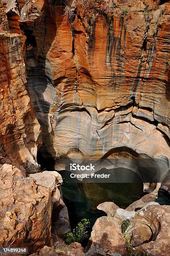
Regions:
M 170 206 L 149 205 L 137 211 L 128 228 L 131 244 L 151 256 L 170 255 Z

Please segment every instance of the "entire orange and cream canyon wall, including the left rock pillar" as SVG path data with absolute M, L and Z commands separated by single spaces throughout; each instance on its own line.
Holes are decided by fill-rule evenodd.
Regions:
M 39 148 L 56 169 L 65 157 L 168 161 L 170 3 L 123 2 L 109 16 L 1 1 L 1 143 L 27 172 Z

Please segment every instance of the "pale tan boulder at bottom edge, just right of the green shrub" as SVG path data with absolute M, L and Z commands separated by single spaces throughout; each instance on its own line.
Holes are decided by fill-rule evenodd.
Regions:
M 126 255 L 121 222 L 112 217 L 98 218 L 93 226 L 86 255 Z

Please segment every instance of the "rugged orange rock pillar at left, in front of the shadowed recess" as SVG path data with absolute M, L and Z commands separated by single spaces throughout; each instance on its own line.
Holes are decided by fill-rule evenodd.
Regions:
M 0 143 L 13 162 L 35 172 L 41 128 L 25 90 L 23 46 L 22 36 L 0 33 Z

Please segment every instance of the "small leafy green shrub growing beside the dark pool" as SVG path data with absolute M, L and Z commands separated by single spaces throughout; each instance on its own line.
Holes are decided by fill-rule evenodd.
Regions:
M 87 219 L 82 219 L 74 228 L 73 232 L 69 232 L 66 234 L 66 244 L 71 244 L 74 242 L 81 243 L 85 238 L 88 237 L 88 228 L 90 226 L 90 222 Z

